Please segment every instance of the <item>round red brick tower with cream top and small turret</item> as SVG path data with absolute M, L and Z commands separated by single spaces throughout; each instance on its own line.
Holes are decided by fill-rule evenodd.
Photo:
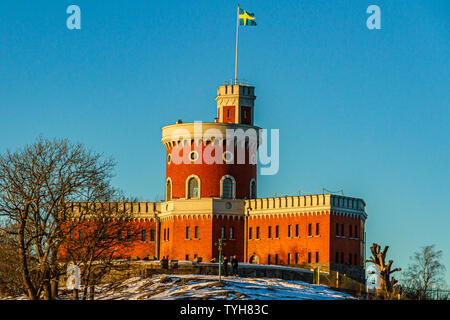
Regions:
M 259 129 L 253 125 L 255 88 L 217 88 L 215 122 L 163 127 L 166 200 L 257 196 Z

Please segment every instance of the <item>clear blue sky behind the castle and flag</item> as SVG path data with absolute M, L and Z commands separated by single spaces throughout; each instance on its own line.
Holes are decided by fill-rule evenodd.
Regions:
M 81 8 L 81 30 L 66 8 Z M 212 121 L 234 75 L 235 1 L 2 1 L 0 152 L 39 134 L 118 164 L 129 195 L 164 194 L 160 128 Z M 381 8 L 381 30 L 366 9 Z M 448 1 L 240 1 L 239 78 L 255 123 L 280 129 L 280 170 L 259 196 L 321 188 L 367 203 L 367 243 L 405 268 L 444 251 L 450 279 Z M 450 281 L 447 280 L 449 283 Z

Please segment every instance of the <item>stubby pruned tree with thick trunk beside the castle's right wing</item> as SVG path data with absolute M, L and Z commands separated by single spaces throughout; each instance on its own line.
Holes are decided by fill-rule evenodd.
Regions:
M 391 277 L 391 274 L 397 271 L 401 271 L 401 268 L 392 269 L 393 260 L 389 260 L 386 263 L 386 254 L 389 249 L 389 246 L 386 246 L 383 250 L 381 250 L 381 246 L 374 243 L 370 247 L 370 251 L 372 252 L 372 257 L 370 257 L 365 262 L 371 262 L 376 265 L 380 269 L 381 276 L 381 290 L 385 293 L 386 298 L 390 298 L 396 293 L 399 293 L 398 280 L 394 277 Z

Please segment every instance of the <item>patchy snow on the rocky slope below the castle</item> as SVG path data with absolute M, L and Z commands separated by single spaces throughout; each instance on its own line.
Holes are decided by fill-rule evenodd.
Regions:
M 71 292 L 61 288 L 60 299 L 71 299 Z M 23 299 L 16 297 L 11 299 Z M 239 278 L 207 275 L 154 275 L 134 277 L 96 288 L 100 300 L 336 300 L 354 299 L 349 294 L 303 281 L 271 278 Z

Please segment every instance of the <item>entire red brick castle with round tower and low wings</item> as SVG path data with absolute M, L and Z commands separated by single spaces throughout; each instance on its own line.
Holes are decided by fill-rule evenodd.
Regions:
M 179 120 L 162 128 L 165 201 L 121 204 L 142 230 L 128 255 L 210 261 L 218 257 L 214 244 L 222 238 L 223 253 L 242 262 L 309 264 L 362 277 L 362 199 L 326 193 L 257 197 L 261 140 L 246 137 L 240 143 L 227 136 L 227 130 L 258 132 L 255 99 L 253 86 L 222 85 L 214 122 Z

